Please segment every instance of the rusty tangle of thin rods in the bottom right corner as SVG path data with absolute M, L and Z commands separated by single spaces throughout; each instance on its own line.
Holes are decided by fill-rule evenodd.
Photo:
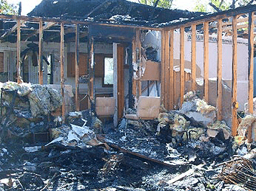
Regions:
M 218 178 L 226 183 L 243 184 L 249 190 L 256 190 L 256 173 L 252 162 L 243 157 L 237 157 L 229 162 L 218 164 L 223 166 Z

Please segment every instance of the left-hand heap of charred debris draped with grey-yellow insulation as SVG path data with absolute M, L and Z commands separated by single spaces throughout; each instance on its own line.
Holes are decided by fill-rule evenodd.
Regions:
M 62 97 L 47 86 L 30 83 L 0 83 L 2 136 L 27 137 L 54 126 L 54 111 Z M 50 120 L 52 119 L 52 120 Z M 7 131 L 7 132 L 5 132 Z

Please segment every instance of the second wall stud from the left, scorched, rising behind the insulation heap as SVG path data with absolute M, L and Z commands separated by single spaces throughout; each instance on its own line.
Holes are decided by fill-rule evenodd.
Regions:
M 44 77 L 43 77 L 43 71 L 42 71 L 42 66 L 43 66 L 42 44 L 43 44 L 43 21 L 39 21 L 38 80 L 39 80 L 39 84 L 41 85 L 44 84 Z

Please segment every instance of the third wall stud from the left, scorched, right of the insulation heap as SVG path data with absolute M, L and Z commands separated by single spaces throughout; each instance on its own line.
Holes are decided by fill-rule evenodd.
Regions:
M 61 23 L 61 95 L 62 95 L 62 120 L 65 122 L 66 103 L 64 99 L 64 23 Z

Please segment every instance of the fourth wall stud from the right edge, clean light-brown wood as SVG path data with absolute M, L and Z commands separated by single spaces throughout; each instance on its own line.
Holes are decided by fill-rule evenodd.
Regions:
M 209 23 L 203 24 L 203 97 L 209 102 Z

